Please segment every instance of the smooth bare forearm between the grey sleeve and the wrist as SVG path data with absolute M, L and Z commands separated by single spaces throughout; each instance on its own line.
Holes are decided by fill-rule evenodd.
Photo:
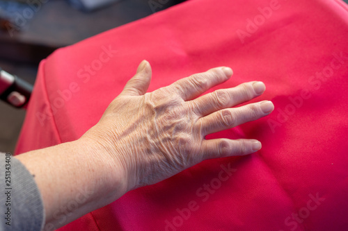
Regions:
M 16 157 L 35 176 L 48 229 L 68 224 L 125 194 L 122 171 L 115 174 L 118 166 L 102 153 L 97 144 L 79 139 Z

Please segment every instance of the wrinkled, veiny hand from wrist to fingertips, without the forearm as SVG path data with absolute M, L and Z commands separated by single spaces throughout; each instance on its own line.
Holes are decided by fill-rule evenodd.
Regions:
M 207 140 L 205 136 L 274 110 L 270 101 L 231 108 L 260 96 L 265 89 L 262 82 L 200 96 L 232 76 L 229 67 L 218 67 L 146 93 L 151 75 L 150 64 L 144 60 L 99 123 L 81 137 L 101 147 L 95 155 L 113 162 L 110 176 L 125 179 L 124 192 L 155 184 L 203 160 L 246 155 L 261 148 L 254 139 Z

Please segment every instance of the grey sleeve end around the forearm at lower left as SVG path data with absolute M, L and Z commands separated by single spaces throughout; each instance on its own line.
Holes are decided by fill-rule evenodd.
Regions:
M 42 230 L 45 212 L 38 186 L 26 167 L 0 153 L 0 231 Z

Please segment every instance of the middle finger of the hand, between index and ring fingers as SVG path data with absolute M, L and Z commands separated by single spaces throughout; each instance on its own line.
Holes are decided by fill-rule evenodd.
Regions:
M 231 108 L 240 103 L 250 101 L 257 96 L 260 96 L 265 89 L 266 87 L 264 83 L 253 81 L 242 83 L 237 87 L 218 89 L 215 92 L 205 94 L 204 96 L 187 103 L 193 106 L 193 110 L 199 116 L 204 117 L 212 112 L 224 108 Z

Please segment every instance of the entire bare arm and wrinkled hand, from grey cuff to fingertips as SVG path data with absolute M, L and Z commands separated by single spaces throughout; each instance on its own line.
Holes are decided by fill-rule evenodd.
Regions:
M 205 139 L 274 110 L 269 101 L 231 108 L 262 94 L 261 82 L 200 96 L 231 76 L 230 68 L 219 67 L 146 93 L 151 68 L 143 61 L 102 119 L 80 139 L 16 156 L 35 176 L 45 230 L 203 160 L 258 151 L 261 144 L 253 139 Z

